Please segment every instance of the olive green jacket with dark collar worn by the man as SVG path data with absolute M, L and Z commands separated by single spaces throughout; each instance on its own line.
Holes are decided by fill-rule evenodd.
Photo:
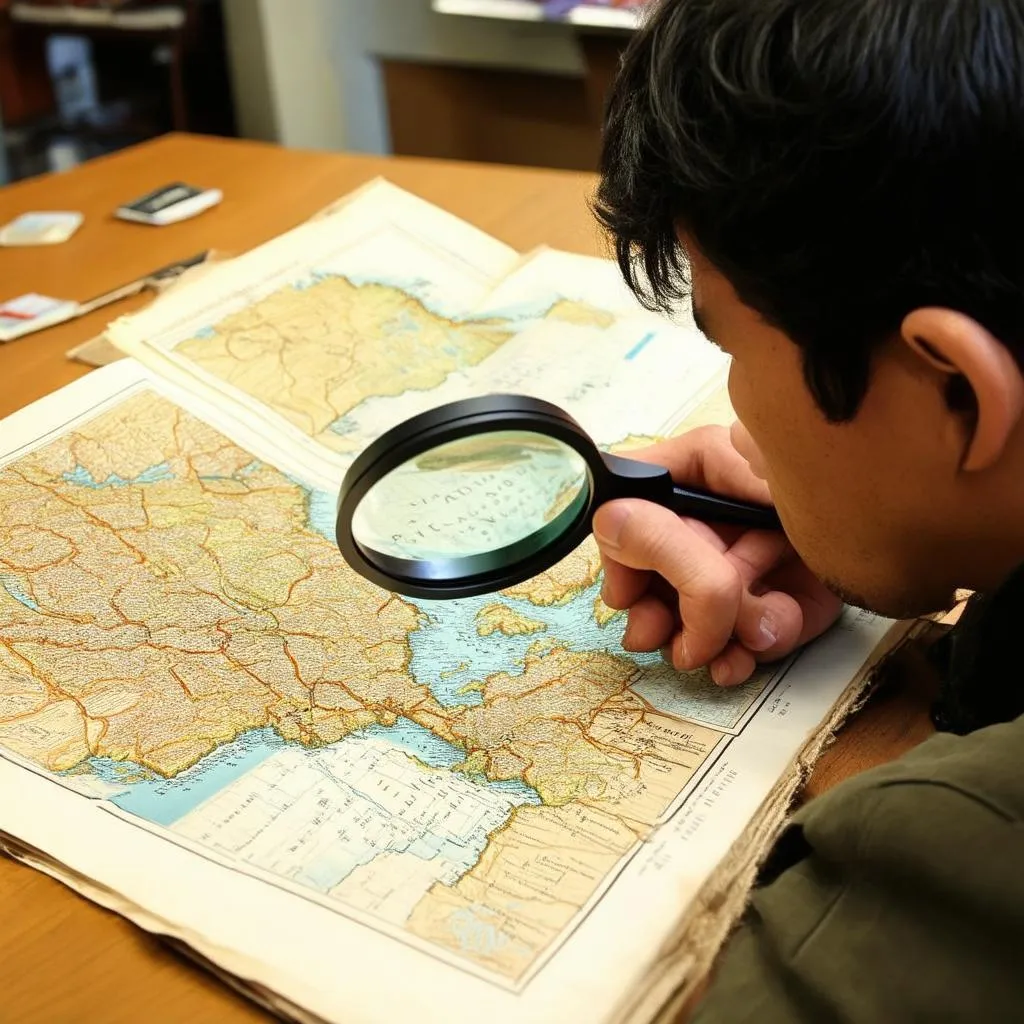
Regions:
M 1019 711 L 1024 603 L 1004 611 L 956 685 Z M 975 724 L 796 815 L 693 1024 L 1024 1022 L 1024 718 Z

